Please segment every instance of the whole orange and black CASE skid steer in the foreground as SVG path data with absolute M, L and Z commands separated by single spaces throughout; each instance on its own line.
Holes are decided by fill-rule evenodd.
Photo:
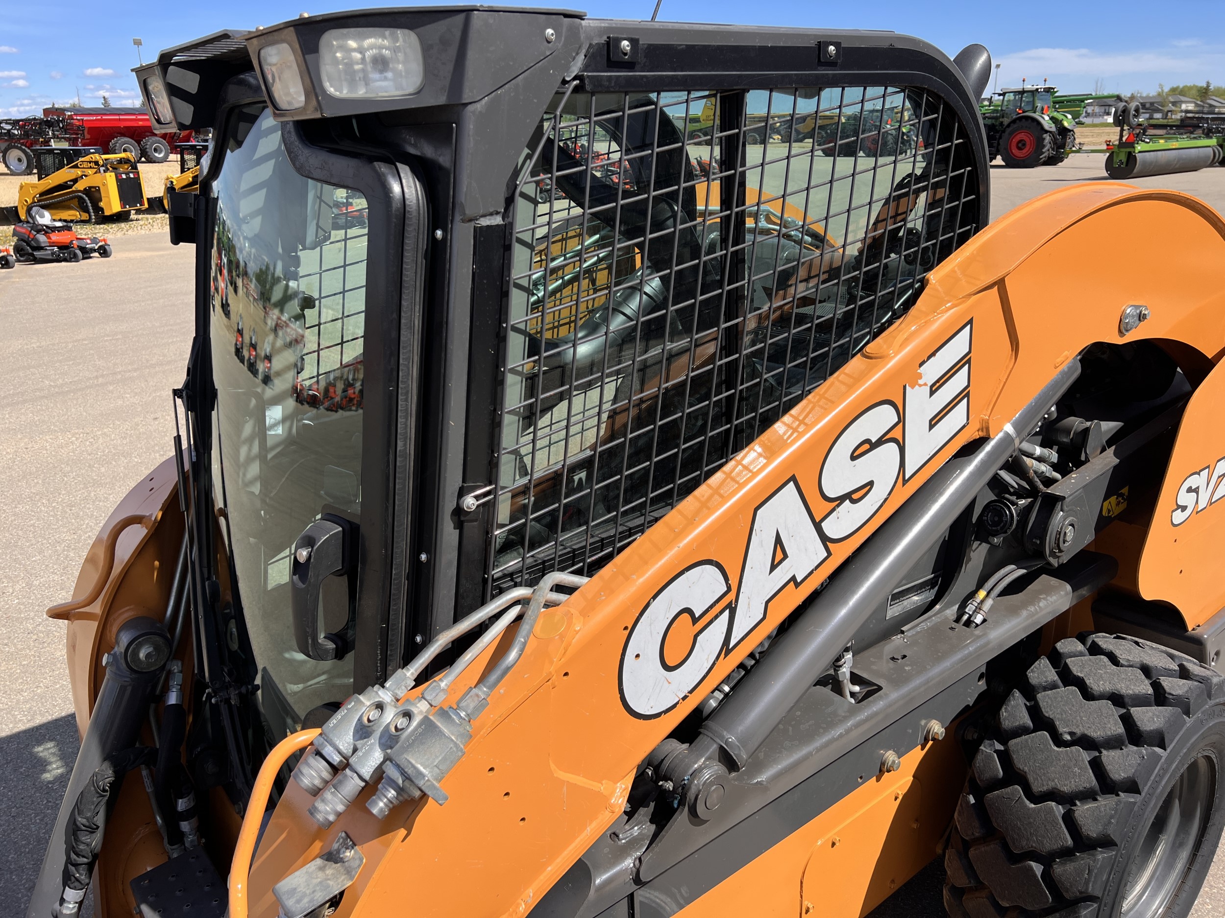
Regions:
M 933 860 L 958 918 L 1186 914 L 1225 224 L 989 226 L 990 72 L 490 7 L 140 69 L 213 132 L 196 338 L 50 610 L 85 739 L 28 916 L 859 918 Z

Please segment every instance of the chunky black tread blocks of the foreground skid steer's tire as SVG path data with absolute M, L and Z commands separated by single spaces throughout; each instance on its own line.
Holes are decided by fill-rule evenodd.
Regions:
M 944 853 L 963 918 L 1089 918 L 1149 782 L 1225 677 L 1156 644 L 1084 633 L 1030 666 L 979 744 Z

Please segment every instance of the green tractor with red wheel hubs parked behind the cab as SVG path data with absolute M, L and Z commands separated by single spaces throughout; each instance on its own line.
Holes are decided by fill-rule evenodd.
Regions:
M 1076 149 L 1076 121 L 1056 110 L 1054 86 L 992 93 L 979 106 L 987 131 L 987 158 L 1003 157 L 1012 169 L 1058 165 Z M 998 100 L 997 100 L 998 98 Z

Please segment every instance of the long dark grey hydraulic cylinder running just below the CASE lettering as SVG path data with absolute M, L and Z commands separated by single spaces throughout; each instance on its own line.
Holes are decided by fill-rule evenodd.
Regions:
M 737 769 L 745 766 L 1079 375 L 1080 361 L 1068 361 L 1000 433 L 973 455 L 946 463 L 884 521 L 702 725 L 686 756 L 687 770 L 715 760 L 720 748 Z

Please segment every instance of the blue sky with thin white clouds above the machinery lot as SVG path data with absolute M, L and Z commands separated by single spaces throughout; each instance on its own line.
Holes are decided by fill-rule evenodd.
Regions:
M 298 13 L 377 6 L 371 0 L 207 0 L 126 4 L 82 12 L 80 4 L 5 4 L 0 12 L 0 118 L 37 114 L 80 98 L 140 103 L 132 38 L 147 61 L 162 48 L 222 28 L 272 26 Z M 402 5 L 402 4 L 391 4 Z M 589 16 L 649 18 L 654 0 L 593 0 Z M 1154 11 L 1160 11 L 1155 15 Z M 985 44 L 1000 86 L 1044 78 L 1063 92 L 1155 92 L 1158 84 L 1225 84 L 1225 0 L 663 0 L 659 18 L 806 28 L 891 29 L 924 38 L 949 56 Z M 75 24 L 71 24 L 75 23 Z

